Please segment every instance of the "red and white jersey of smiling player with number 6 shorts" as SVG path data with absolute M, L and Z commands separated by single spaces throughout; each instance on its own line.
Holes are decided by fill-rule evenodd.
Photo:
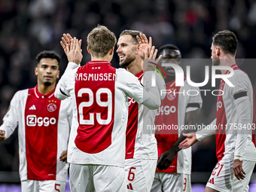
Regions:
M 157 80 L 157 88 L 166 90 L 163 78 L 154 72 Z M 143 84 L 143 71 L 136 77 Z M 164 95 L 165 96 L 165 95 Z M 164 99 L 161 96 L 161 99 Z M 154 130 L 145 132 L 147 125 L 154 125 L 156 110 L 151 110 L 145 105 L 138 104 L 133 98 L 128 98 L 129 114 L 126 128 L 126 159 L 155 159 L 157 160 L 157 140 Z

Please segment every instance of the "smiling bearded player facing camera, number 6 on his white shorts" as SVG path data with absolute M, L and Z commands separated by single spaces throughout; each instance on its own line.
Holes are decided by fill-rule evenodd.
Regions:
M 120 58 L 120 66 L 142 81 L 144 75 L 142 50 L 151 47 L 151 38 L 146 38 L 142 32 L 124 30 L 117 41 L 117 54 Z M 154 46 L 152 47 L 154 49 Z M 155 55 L 150 59 L 155 59 Z M 157 72 L 157 87 L 165 90 L 165 82 Z M 143 81 L 142 81 L 143 84 Z M 164 95 L 161 96 L 161 99 Z M 147 125 L 154 125 L 155 111 L 139 104 L 133 98 L 129 98 L 129 114 L 126 128 L 126 160 L 125 169 L 127 175 L 128 191 L 150 191 L 154 179 L 154 170 L 157 165 L 157 141 L 154 130 L 145 133 Z

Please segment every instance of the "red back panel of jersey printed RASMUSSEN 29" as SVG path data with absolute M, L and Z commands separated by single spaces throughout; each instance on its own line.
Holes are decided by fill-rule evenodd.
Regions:
M 114 125 L 116 69 L 102 63 L 87 64 L 75 74 L 79 118 L 75 144 L 89 154 L 99 153 L 111 145 L 110 136 Z M 90 142 L 90 145 L 85 146 L 84 142 Z

